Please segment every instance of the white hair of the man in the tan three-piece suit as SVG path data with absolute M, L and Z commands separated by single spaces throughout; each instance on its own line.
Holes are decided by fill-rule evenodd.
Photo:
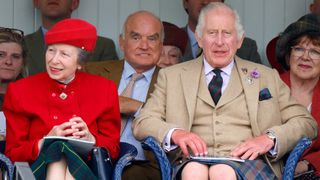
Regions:
M 201 12 L 200 12 L 200 15 L 199 15 L 199 19 L 198 19 L 198 24 L 197 24 L 197 27 L 196 27 L 196 33 L 198 34 L 199 37 L 202 37 L 202 31 L 203 31 L 204 24 L 205 24 L 205 15 L 209 11 L 214 11 L 214 10 L 219 9 L 219 8 L 229 9 L 234 14 L 234 17 L 235 17 L 235 28 L 236 28 L 236 31 L 237 31 L 237 38 L 238 38 L 238 40 L 240 40 L 241 37 L 244 34 L 244 29 L 243 29 L 243 26 L 241 24 L 239 14 L 231 6 L 229 6 L 227 4 L 224 4 L 222 2 L 212 2 L 212 3 L 209 3 L 204 8 L 201 9 Z

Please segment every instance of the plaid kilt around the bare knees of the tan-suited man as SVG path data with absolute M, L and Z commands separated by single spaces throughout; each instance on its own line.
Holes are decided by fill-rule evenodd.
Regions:
M 182 168 L 191 161 L 197 160 L 186 160 L 182 164 L 176 166 L 174 168 L 174 179 L 180 179 Z M 214 165 L 214 164 L 226 164 L 231 166 L 236 174 L 238 180 L 247 180 L 247 179 L 255 179 L 255 180 L 272 180 L 277 179 L 277 177 L 272 172 L 271 168 L 261 159 L 257 160 L 246 160 L 245 162 L 235 162 L 235 161 L 222 161 L 210 160 L 208 162 L 199 162 L 201 164 Z

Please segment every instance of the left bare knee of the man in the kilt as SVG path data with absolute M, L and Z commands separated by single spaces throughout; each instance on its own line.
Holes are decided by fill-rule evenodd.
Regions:
M 198 162 L 189 162 L 181 173 L 184 180 L 208 179 L 208 166 Z

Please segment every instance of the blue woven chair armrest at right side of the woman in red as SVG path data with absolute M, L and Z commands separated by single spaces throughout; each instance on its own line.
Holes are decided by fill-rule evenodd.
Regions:
M 136 147 L 129 143 L 120 142 L 120 154 L 116 161 L 113 173 L 114 180 L 121 180 L 124 167 L 130 163 L 138 154 Z

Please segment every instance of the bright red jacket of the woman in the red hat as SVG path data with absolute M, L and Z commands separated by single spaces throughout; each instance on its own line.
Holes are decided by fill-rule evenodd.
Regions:
M 113 159 L 120 151 L 117 87 L 106 78 L 77 72 L 74 80 L 62 85 L 47 73 L 30 76 L 9 85 L 3 111 L 7 119 L 5 154 L 12 161 L 36 160 L 38 141 L 73 116 L 86 122 L 96 145 L 107 148 Z

